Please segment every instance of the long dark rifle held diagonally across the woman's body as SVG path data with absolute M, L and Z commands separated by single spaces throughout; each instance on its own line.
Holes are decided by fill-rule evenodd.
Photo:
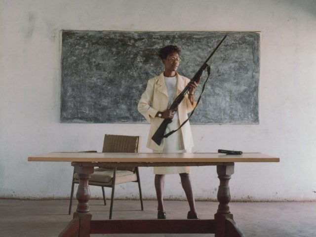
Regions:
M 213 56 L 213 54 L 217 51 L 217 49 L 221 46 L 221 44 L 224 42 L 224 40 L 226 39 L 227 35 L 225 35 L 223 37 L 223 39 L 217 44 L 216 48 L 213 50 L 213 52 L 209 55 L 209 57 L 205 60 L 205 62 L 202 64 L 202 66 L 198 69 L 197 73 L 194 75 L 194 77 L 192 78 L 193 81 L 195 82 L 199 82 L 200 77 L 203 74 L 203 71 L 209 67 L 207 65 L 207 62 L 210 60 L 210 58 Z M 172 105 L 170 106 L 169 110 L 175 110 L 178 105 L 181 103 L 181 101 L 184 99 L 186 93 L 188 93 L 190 87 L 187 85 L 182 91 L 181 93 L 176 97 L 176 99 L 173 101 Z M 166 129 L 167 129 L 167 125 L 168 123 L 170 123 L 172 121 L 172 118 L 165 118 L 162 123 L 160 124 L 160 126 L 158 127 L 157 131 L 155 132 L 155 134 L 153 135 L 152 139 L 154 142 L 157 143 L 157 145 L 159 146 L 161 144 L 161 141 L 164 137 L 168 137 L 169 135 L 171 135 L 173 132 L 170 132 L 168 134 L 168 136 L 164 135 Z M 184 124 L 184 123 L 183 123 Z M 182 124 L 182 125 L 183 125 Z M 181 125 L 181 126 L 182 126 Z

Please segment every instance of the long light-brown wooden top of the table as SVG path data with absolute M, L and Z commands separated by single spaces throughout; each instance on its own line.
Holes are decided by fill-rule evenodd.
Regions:
M 52 152 L 31 156 L 29 161 L 65 161 L 65 162 L 164 162 L 164 163 L 216 163 L 216 162 L 279 162 L 279 158 L 261 153 L 243 153 L 226 155 L 218 153 L 81 153 Z

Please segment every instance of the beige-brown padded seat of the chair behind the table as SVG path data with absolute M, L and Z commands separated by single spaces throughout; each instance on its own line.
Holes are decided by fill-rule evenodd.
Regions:
M 74 175 L 75 181 L 79 182 L 79 176 L 77 173 Z M 129 170 L 117 170 L 116 171 L 116 184 L 137 181 L 136 173 Z M 91 174 L 89 184 L 99 186 L 111 186 L 113 184 L 113 169 L 96 168 L 94 173 Z

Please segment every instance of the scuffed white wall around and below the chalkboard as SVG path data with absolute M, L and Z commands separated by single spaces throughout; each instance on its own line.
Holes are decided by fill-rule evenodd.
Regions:
M 141 152 L 150 152 L 148 124 L 59 122 L 60 31 L 70 29 L 260 31 L 260 124 L 193 125 L 194 151 L 280 158 L 237 163 L 233 200 L 316 199 L 315 0 L 0 0 L 0 13 L 0 197 L 69 197 L 70 164 L 30 155 L 100 151 L 105 133 L 141 135 Z M 194 167 L 192 177 L 197 199 L 216 199 L 215 167 Z M 155 197 L 152 168 L 141 178 L 144 196 Z M 166 197 L 184 198 L 179 183 L 167 177 Z M 137 197 L 131 186 L 116 197 Z

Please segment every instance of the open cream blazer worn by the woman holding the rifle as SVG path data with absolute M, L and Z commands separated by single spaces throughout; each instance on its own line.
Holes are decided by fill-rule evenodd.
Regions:
M 177 91 L 176 94 L 180 94 L 184 87 L 189 83 L 190 79 L 180 76 L 178 73 L 177 77 Z M 152 78 L 148 81 L 145 92 L 142 94 L 142 97 L 138 103 L 138 111 L 141 113 L 146 120 L 151 123 L 147 148 L 162 151 L 164 140 L 162 140 L 160 146 L 158 146 L 153 140 L 152 136 L 157 131 L 158 127 L 163 121 L 163 118 L 155 117 L 157 112 L 163 112 L 167 110 L 168 106 L 168 91 L 164 83 L 164 76 L 161 73 L 159 76 Z M 178 106 L 178 114 L 180 124 L 182 124 L 187 118 L 188 113 L 190 113 L 195 104 L 192 105 L 188 95 L 182 100 Z M 189 121 L 186 122 L 181 128 L 184 149 L 188 150 L 193 147 L 193 137 L 191 132 L 191 126 Z

